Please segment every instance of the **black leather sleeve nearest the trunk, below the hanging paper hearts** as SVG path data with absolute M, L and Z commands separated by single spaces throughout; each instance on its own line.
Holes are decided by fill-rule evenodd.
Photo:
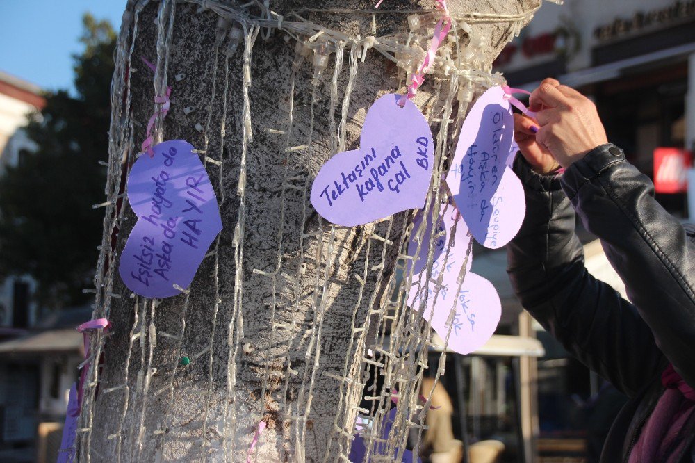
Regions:
M 664 366 L 651 330 L 630 302 L 584 267 L 561 181 L 536 174 L 523 156 L 514 170 L 526 197 L 523 225 L 507 245 L 516 295 L 573 356 L 634 396 Z

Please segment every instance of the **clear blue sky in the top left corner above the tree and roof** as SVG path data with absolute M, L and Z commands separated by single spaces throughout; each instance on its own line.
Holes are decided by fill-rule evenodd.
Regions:
M 126 0 L 0 0 L 0 70 L 46 90 L 72 90 L 82 15 L 118 31 Z

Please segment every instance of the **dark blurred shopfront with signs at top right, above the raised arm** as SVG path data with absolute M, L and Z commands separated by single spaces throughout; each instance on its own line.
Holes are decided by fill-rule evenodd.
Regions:
M 608 138 L 652 178 L 655 148 L 695 143 L 695 1 L 546 3 L 495 69 L 512 86 L 550 76 L 589 95 Z M 687 215 L 685 194 L 657 199 Z

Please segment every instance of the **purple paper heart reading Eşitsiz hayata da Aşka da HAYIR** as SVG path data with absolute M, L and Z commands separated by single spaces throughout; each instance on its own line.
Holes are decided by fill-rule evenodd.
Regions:
M 169 140 L 143 154 L 128 177 L 138 222 L 121 254 L 119 273 L 133 293 L 167 298 L 193 281 L 222 230 L 215 190 L 193 146 Z

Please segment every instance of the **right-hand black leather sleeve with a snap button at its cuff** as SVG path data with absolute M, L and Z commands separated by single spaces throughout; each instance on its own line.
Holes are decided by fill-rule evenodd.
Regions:
M 695 245 L 685 229 L 656 202 L 648 177 L 610 143 L 571 165 L 561 184 L 657 346 L 695 386 Z

